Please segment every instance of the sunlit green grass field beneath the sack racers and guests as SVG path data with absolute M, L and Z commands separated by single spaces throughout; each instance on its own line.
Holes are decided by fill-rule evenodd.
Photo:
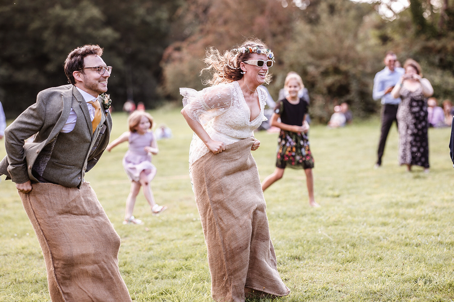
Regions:
M 123 225 L 130 184 L 121 159 L 126 143 L 105 153 L 87 176 L 122 239 L 120 272 L 134 301 L 212 301 L 202 227 L 188 177 L 192 132 L 167 106 L 150 112 L 173 139 L 158 141 L 152 182 L 168 210 L 151 215 L 141 193 Z M 114 113 L 112 139 L 126 127 Z M 374 169 L 379 121 L 342 129 L 310 130 L 316 160 L 315 197 L 308 205 L 301 170 L 286 169 L 266 192 L 278 270 L 291 288 L 277 302 L 452 301 L 454 299 L 454 169 L 450 129 L 429 129 L 430 173 L 408 173 L 397 162 L 398 135 L 390 132 L 383 165 Z M 259 132 L 253 152 L 263 180 L 274 170 L 277 134 Z M 0 155 L 5 148 L 0 147 Z M 2 177 L 4 179 L 4 177 Z M 10 181 L 0 183 L 0 301 L 50 301 L 38 240 Z M 268 301 L 268 300 L 263 300 Z

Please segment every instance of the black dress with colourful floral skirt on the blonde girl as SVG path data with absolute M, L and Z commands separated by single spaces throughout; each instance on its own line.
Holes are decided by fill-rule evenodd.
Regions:
M 307 102 L 303 98 L 296 105 L 286 99 L 279 101 L 274 112 L 281 117 L 281 122 L 287 125 L 302 125 L 307 113 Z M 285 131 L 281 129 L 277 139 L 277 168 L 296 169 L 314 168 L 314 158 L 309 148 L 307 134 Z

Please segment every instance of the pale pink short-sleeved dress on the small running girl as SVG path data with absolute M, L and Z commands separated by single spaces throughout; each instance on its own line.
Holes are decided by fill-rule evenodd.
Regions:
M 151 153 L 144 150 L 146 146 L 151 146 L 153 137 L 153 131 L 145 134 L 137 132 L 129 134 L 129 150 L 124 154 L 123 168 L 131 181 L 138 182 L 143 170 L 147 172 L 148 181 L 151 181 L 156 174 L 156 167 L 151 163 Z

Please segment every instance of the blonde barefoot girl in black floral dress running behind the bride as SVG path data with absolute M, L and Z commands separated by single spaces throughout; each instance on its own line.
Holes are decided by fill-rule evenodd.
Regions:
M 306 173 L 307 191 L 309 193 L 309 204 L 314 207 L 320 205 L 314 200 L 314 158 L 309 149 L 307 131 L 309 124 L 306 121 L 308 103 L 298 97 L 298 91 L 304 88 L 303 81 L 297 73 L 287 75 L 284 88 L 286 98 L 278 101 L 273 115 L 271 116 L 271 126 L 281 129 L 277 139 L 277 160 L 274 172 L 262 182 L 262 190 L 274 182 L 281 179 L 284 169 L 291 168 L 304 169 Z M 281 118 L 281 121 L 278 119 Z

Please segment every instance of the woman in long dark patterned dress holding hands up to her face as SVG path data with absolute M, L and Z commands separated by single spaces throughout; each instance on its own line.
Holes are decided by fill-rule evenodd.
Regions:
M 397 110 L 399 125 L 399 163 L 406 165 L 407 171 L 417 165 L 429 172 L 429 139 L 427 129 L 427 98 L 434 88 L 429 80 L 422 77 L 418 62 L 408 59 L 404 64 L 405 74 L 394 86 L 391 95 L 400 97 Z

